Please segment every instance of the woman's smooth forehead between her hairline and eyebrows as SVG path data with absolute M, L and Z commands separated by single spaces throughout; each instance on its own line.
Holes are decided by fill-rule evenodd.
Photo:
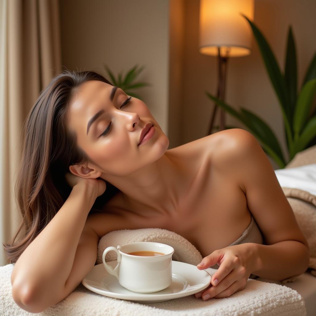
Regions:
M 90 80 L 82 83 L 69 103 L 69 124 L 77 129 L 82 122 L 88 122 L 97 111 L 96 106 L 106 100 L 113 86 L 102 81 Z

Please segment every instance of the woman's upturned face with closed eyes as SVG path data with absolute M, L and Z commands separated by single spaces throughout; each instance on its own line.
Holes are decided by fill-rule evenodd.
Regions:
M 155 126 L 155 134 L 138 146 L 147 123 Z M 80 85 L 69 105 L 68 124 L 76 131 L 77 145 L 101 169 L 88 167 L 111 175 L 128 175 L 159 159 L 169 146 L 167 136 L 143 101 L 101 81 Z

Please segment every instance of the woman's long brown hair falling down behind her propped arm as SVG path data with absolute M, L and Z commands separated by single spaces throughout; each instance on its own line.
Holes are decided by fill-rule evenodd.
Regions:
M 9 263 L 17 261 L 69 197 L 72 188 L 64 177 L 69 166 L 88 162 L 98 166 L 76 145 L 76 132 L 66 125 L 69 102 L 79 85 L 89 80 L 112 85 L 95 71 L 64 70 L 41 91 L 23 124 L 22 159 L 15 184 L 22 222 L 13 239 L 3 243 Z M 106 191 L 96 198 L 90 213 L 101 211 L 118 192 L 106 181 Z

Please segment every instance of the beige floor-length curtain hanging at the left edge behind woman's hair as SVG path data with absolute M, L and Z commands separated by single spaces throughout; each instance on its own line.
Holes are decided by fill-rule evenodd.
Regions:
M 40 91 L 61 71 L 58 0 L 0 0 L 0 266 L 19 223 L 14 186 L 22 124 Z

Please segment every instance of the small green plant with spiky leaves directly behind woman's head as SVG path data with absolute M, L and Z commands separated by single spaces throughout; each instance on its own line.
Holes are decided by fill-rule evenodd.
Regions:
M 110 82 L 119 88 L 121 88 L 126 94 L 135 97 L 141 100 L 141 97 L 133 92 L 135 89 L 142 88 L 145 86 L 151 86 L 147 82 L 134 82 L 135 78 L 139 75 L 139 73 L 144 69 L 144 66 L 138 68 L 138 65 L 135 65 L 133 68 L 126 72 L 126 75 L 123 77 L 123 73 L 119 73 L 117 78 L 113 75 L 112 71 L 107 65 L 104 65 L 108 75 L 110 76 Z M 137 69 L 138 68 L 138 69 Z

